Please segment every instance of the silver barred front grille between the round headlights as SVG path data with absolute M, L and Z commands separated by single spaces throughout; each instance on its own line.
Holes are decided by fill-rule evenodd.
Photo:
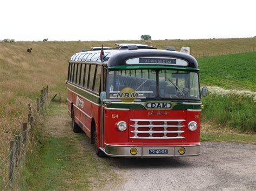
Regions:
M 131 139 L 185 139 L 181 136 L 185 119 L 130 119 Z

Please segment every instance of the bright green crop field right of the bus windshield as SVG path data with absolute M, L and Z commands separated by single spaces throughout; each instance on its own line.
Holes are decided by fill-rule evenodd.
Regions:
M 198 59 L 200 83 L 256 91 L 256 52 Z

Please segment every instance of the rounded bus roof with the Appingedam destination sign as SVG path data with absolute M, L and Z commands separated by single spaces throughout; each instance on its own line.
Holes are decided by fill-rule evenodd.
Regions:
M 186 66 L 198 68 L 197 60 L 186 53 L 177 51 L 167 51 L 163 49 L 138 48 L 129 49 L 105 49 L 104 63 L 107 67 L 113 66 L 133 66 L 133 65 L 157 65 L 157 66 Z M 71 56 L 70 62 L 97 62 L 100 50 L 79 52 Z

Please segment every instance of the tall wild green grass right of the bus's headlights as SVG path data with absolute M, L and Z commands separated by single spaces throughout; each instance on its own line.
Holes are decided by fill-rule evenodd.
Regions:
M 253 97 L 209 94 L 202 98 L 202 121 L 212 121 L 219 128 L 256 132 L 256 104 Z

